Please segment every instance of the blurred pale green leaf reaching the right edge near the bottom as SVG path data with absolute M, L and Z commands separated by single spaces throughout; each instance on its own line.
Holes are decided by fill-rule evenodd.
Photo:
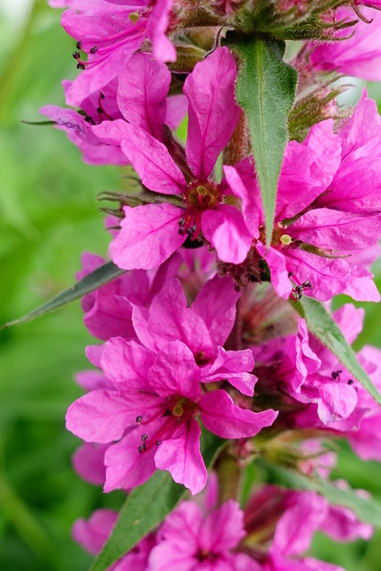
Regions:
M 319 476 L 304 476 L 294 469 L 282 468 L 264 459 L 258 460 L 256 464 L 269 484 L 277 484 L 293 490 L 318 492 L 327 498 L 329 503 L 352 509 L 361 521 L 381 526 L 381 504 L 374 498 L 363 498 L 352 489 L 342 490 Z

